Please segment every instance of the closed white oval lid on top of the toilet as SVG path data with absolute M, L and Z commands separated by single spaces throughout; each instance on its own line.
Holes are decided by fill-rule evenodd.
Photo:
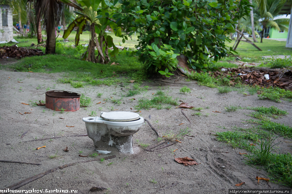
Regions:
M 135 112 L 126 111 L 100 112 L 100 118 L 106 121 L 126 122 L 138 120 L 140 115 Z

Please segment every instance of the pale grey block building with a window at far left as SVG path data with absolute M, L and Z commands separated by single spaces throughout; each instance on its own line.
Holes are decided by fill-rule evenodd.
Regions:
M 0 41 L 9 42 L 13 39 L 13 20 L 10 7 L 0 5 Z

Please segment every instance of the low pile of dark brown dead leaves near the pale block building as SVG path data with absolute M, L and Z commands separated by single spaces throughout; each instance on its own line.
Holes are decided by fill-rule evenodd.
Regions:
M 21 59 L 23 57 L 40 56 L 44 53 L 40 49 L 18 47 L 16 44 L 10 47 L 0 47 L 0 57 L 6 59 L 7 57 L 13 57 Z

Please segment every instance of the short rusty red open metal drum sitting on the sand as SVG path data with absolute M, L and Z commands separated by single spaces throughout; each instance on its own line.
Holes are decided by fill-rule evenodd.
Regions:
M 70 91 L 47 91 L 46 108 L 55 111 L 77 111 L 80 108 L 80 96 L 80 94 Z

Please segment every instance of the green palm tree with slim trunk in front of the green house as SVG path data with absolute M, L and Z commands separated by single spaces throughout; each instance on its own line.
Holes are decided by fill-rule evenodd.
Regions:
M 263 26 L 260 43 L 263 43 L 263 36 L 267 26 L 277 30 L 288 29 L 285 24 L 289 24 L 289 19 L 274 20 L 274 17 L 279 15 L 285 2 L 286 0 L 257 0 L 258 9 L 254 9 L 254 18 Z

